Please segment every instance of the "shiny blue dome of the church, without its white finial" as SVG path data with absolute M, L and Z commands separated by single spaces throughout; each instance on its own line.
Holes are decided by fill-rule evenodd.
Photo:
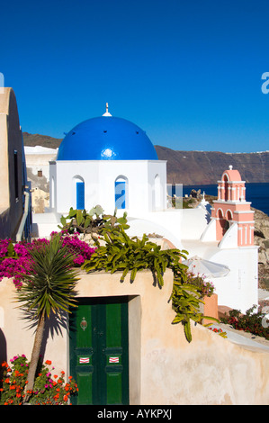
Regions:
M 113 116 L 83 121 L 58 148 L 57 160 L 157 160 L 157 152 L 137 125 Z

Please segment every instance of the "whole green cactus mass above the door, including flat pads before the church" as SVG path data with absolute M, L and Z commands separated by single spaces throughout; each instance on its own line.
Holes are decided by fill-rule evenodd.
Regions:
M 166 269 L 172 269 L 175 282 L 171 301 L 176 314 L 173 324 L 181 322 L 185 336 L 191 342 L 190 322 L 200 322 L 207 318 L 199 311 L 200 303 L 204 295 L 211 295 L 213 287 L 198 277 L 187 274 L 187 266 L 181 263 L 181 258 L 186 258 L 187 251 L 177 248 L 161 250 L 161 247 L 150 242 L 145 234 L 142 239 L 130 238 L 125 232 L 125 229 L 129 228 L 126 217 L 127 214 L 124 213 L 123 217 L 116 218 L 116 211 L 113 215 L 106 215 L 100 206 L 94 207 L 89 213 L 71 208 L 67 218 L 62 217 L 63 226 L 59 228 L 68 232 L 76 229 L 80 233 L 90 233 L 94 238 L 98 248 L 91 259 L 86 260 L 82 266 L 86 272 L 121 272 L 121 283 L 130 273 L 130 283 L 133 283 L 139 271 L 150 270 L 156 283 L 163 286 Z M 103 239 L 104 245 L 100 244 L 98 238 Z

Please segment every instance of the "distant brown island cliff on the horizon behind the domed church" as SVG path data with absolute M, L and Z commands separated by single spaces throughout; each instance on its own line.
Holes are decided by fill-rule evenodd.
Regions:
M 58 148 L 62 139 L 23 132 L 24 146 Z M 223 170 L 232 165 L 247 183 L 269 183 L 269 151 L 222 153 L 219 151 L 177 151 L 155 146 L 159 160 L 167 161 L 168 184 L 216 184 Z

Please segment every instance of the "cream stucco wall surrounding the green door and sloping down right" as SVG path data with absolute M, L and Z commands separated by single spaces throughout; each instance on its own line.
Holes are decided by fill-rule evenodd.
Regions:
M 192 325 L 193 341 L 188 343 L 182 326 L 171 324 L 175 314 L 168 302 L 173 284 L 170 271 L 162 289 L 154 286 L 150 272 L 139 273 L 133 284 L 128 276 L 123 284 L 119 279 L 119 274 L 81 274 L 77 294 L 130 296 L 132 404 L 269 404 L 267 352 L 235 345 L 200 325 Z M 31 356 L 33 329 L 15 309 L 14 293 L 12 281 L 4 279 L 0 283 L 2 359 Z M 52 331 L 52 323 L 56 330 Z M 45 359 L 52 360 L 56 370 L 68 372 L 67 329 L 54 321 L 47 333 Z

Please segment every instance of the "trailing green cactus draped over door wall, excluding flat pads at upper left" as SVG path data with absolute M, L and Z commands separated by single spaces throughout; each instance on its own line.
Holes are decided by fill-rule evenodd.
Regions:
M 174 273 L 174 286 L 170 300 L 175 311 L 173 324 L 182 323 L 184 333 L 189 342 L 192 340 L 191 320 L 200 322 L 206 319 L 199 311 L 202 296 L 211 293 L 207 284 L 187 274 L 187 266 L 181 263 L 186 258 L 187 251 L 177 248 L 161 250 L 156 243 L 150 242 L 144 234 L 141 239 L 130 238 L 125 232 L 125 223 L 121 220 L 117 227 L 104 224 L 100 234 L 105 241 L 99 246 L 90 260 L 82 266 L 86 272 L 105 270 L 111 274 L 121 272 L 121 283 L 130 273 L 130 283 L 133 283 L 137 273 L 150 270 L 159 286 L 163 286 L 163 275 L 167 268 Z M 121 224 L 123 223 L 123 224 Z

